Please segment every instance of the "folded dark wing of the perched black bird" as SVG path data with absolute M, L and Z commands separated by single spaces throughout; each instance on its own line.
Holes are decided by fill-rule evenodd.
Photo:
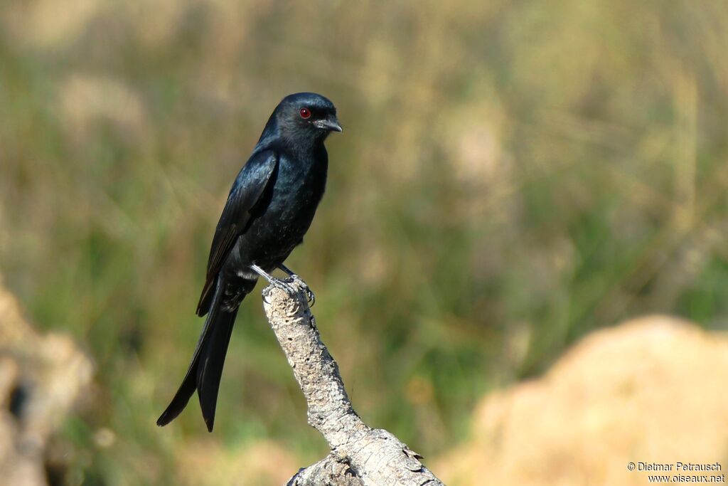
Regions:
M 207 313 L 215 281 L 237 238 L 248 229 L 250 219 L 260 209 L 266 187 L 274 181 L 278 158 L 271 151 L 253 154 L 235 179 L 215 230 L 207 262 L 207 277 L 197 304 L 197 315 Z

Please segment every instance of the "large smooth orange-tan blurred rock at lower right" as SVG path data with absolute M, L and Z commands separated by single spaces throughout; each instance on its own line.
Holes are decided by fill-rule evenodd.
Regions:
M 433 471 L 448 485 L 628 486 L 654 474 L 630 462 L 726 468 L 726 383 L 724 334 L 664 316 L 628 321 L 590 334 L 544 377 L 486 396 L 470 441 Z

